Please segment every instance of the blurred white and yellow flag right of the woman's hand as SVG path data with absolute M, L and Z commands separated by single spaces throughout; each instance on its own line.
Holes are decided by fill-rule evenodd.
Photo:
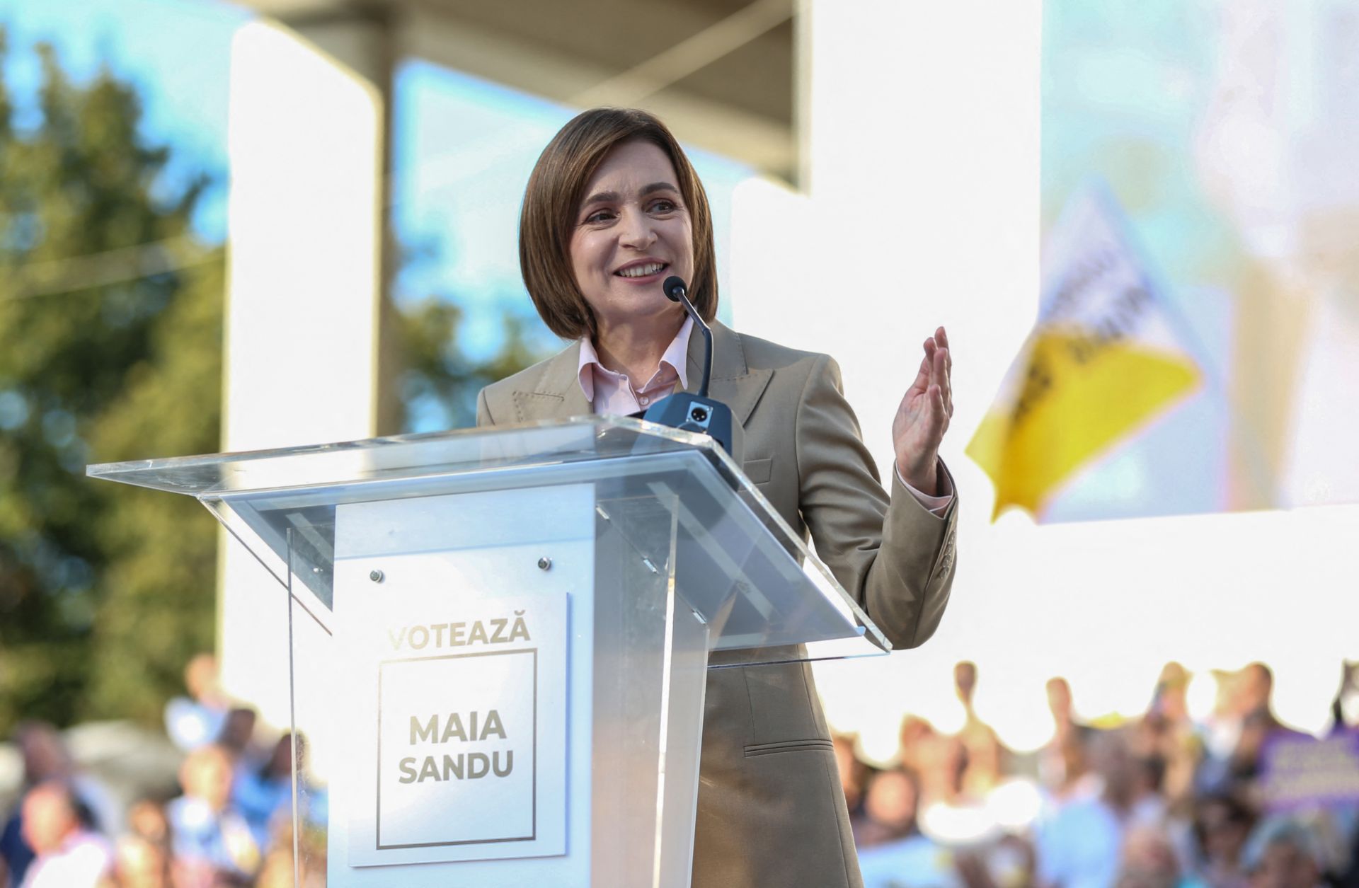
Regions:
M 996 485 L 992 520 L 1011 505 L 1040 515 L 1078 468 L 1201 380 L 1105 189 L 1072 198 L 1042 265 L 1038 322 L 966 449 Z

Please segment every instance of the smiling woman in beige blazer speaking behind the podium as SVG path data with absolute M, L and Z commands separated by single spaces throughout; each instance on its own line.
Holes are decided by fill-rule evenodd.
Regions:
M 696 383 L 690 367 L 701 337 L 660 286 L 678 276 L 712 326 L 711 394 L 745 426 L 746 474 L 790 527 L 810 532 L 817 554 L 894 646 L 930 638 L 949 602 L 957 515 L 938 455 L 953 413 L 942 327 L 925 339 L 892 424 L 889 496 L 834 361 L 713 319 L 708 198 L 651 114 L 594 109 L 556 134 L 525 191 L 519 263 L 538 314 L 572 344 L 484 388 L 478 425 L 626 415 Z M 807 664 L 709 671 L 693 884 L 860 884 Z

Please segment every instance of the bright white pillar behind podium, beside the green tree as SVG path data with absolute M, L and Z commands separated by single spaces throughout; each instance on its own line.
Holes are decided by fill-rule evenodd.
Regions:
M 378 414 L 382 94 L 269 23 L 232 46 L 227 451 L 371 437 Z M 287 593 L 222 542 L 224 688 L 288 724 Z

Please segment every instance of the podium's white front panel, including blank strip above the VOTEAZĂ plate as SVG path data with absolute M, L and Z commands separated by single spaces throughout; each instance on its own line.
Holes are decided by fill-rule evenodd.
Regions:
M 582 485 L 336 509 L 352 866 L 565 854 L 567 612 L 591 597 L 593 524 Z

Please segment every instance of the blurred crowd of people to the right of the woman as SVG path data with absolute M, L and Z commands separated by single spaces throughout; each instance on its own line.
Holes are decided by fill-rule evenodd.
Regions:
M 1189 675 L 1171 663 L 1144 714 L 1094 725 L 1075 717 L 1067 682 L 1052 679 L 1053 733 L 1018 755 L 977 716 L 977 669 L 959 663 L 966 721 L 957 733 L 908 716 L 882 769 L 856 755 L 853 737 L 836 739 L 864 885 L 1359 887 L 1356 672 L 1345 665 L 1332 707 L 1340 747 L 1280 724 L 1260 663 L 1218 675 L 1214 713 L 1195 720 Z M 1347 752 L 1330 758 L 1337 778 L 1325 756 L 1310 777 L 1280 778 L 1271 773 L 1280 744 L 1305 756 L 1321 745 Z

